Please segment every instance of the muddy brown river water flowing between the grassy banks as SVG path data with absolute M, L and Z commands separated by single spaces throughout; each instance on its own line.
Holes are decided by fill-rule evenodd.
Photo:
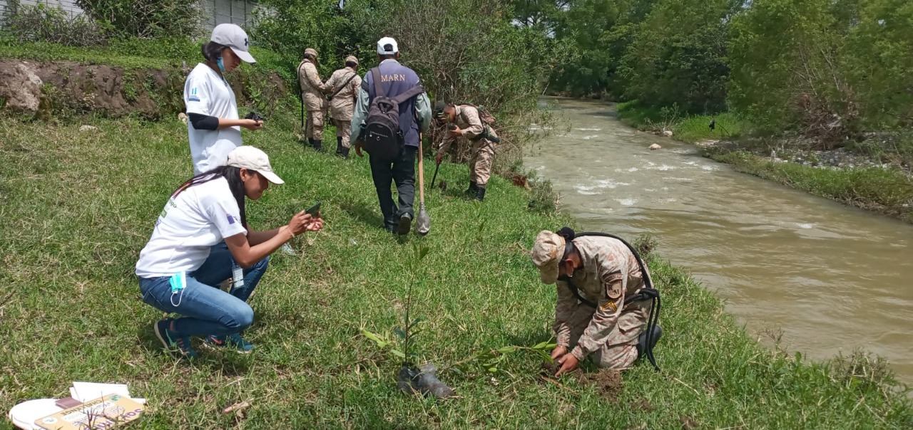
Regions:
M 749 333 L 782 330 L 818 359 L 862 347 L 913 384 L 913 226 L 738 173 L 624 126 L 612 105 L 544 101 L 561 127 L 524 164 L 582 228 L 650 233 Z

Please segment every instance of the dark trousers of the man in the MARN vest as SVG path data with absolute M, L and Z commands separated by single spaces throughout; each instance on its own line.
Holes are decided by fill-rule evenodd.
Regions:
M 415 200 L 415 152 L 416 147 L 406 146 L 393 161 L 380 161 L 371 157 L 371 176 L 374 188 L 377 189 L 377 200 L 381 203 L 383 227 L 394 230 L 400 217 L 408 213 L 414 215 L 412 202 Z M 399 194 L 399 208 L 396 208 L 392 182 L 396 183 Z

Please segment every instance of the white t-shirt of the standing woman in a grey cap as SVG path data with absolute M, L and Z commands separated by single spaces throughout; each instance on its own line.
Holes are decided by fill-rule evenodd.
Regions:
M 200 63 L 187 76 L 184 83 L 184 105 L 187 114 L 208 115 L 215 118 L 237 119 L 235 92 L 212 67 Z M 240 147 L 241 128 L 198 130 L 187 121 L 190 138 L 190 155 L 194 159 L 194 175 L 224 166 L 228 153 Z

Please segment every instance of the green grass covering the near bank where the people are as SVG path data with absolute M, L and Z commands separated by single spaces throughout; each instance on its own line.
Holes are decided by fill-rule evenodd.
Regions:
M 152 323 L 162 313 L 141 302 L 132 274 L 165 200 L 190 174 L 184 124 L 99 119 L 89 121 L 94 134 L 0 120 L 0 410 L 94 381 L 148 399 L 137 428 L 678 429 L 685 417 L 700 428 L 913 427 L 884 363 L 768 351 L 719 299 L 656 257 L 663 372 L 637 363 L 616 400 L 573 377 L 543 381 L 540 357 L 527 351 L 494 374 L 478 363 L 442 371 L 455 399 L 404 395 L 394 384 L 399 361 L 360 330 L 391 333 L 415 276 L 412 315 L 426 320 L 415 347 L 439 368 L 549 340 L 555 290 L 539 282 L 526 250 L 539 230 L 570 220 L 527 210 L 528 191 L 503 179 L 484 204 L 465 200 L 467 168 L 445 164 L 446 194 L 426 196 L 432 231 L 408 240 L 430 250 L 415 268 L 412 245 L 379 229 L 367 160 L 300 148 L 291 121 L 245 131 L 287 182 L 248 203 L 250 224 L 278 227 L 322 200 L 326 226 L 295 240 L 299 255 L 274 255 L 251 299 L 255 353 L 203 350 L 184 363 L 161 351 Z M 252 404 L 246 417 L 219 414 L 241 401 Z

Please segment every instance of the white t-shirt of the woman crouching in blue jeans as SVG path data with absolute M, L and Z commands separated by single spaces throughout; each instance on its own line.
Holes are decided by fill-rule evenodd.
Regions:
M 237 233 L 247 234 L 240 210 L 225 178 L 181 191 L 165 203 L 155 230 L 136 262 L 141 278 L 195 271 L 209 257 L 209 248 Z

